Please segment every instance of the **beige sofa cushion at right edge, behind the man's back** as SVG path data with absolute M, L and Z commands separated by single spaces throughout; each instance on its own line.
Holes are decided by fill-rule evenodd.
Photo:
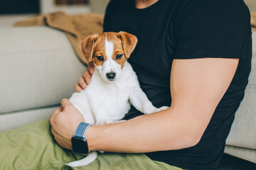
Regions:
M 252 70 L 245 97 L 235 113 L 227 145 L 256 149 L 256 32 L 252 33 Z

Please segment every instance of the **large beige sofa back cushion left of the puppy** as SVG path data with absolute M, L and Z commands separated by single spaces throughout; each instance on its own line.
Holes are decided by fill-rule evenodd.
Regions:
M 85 65 L 65 33 L 46 26 L 0 27 L 0 114 L 58 105 Z

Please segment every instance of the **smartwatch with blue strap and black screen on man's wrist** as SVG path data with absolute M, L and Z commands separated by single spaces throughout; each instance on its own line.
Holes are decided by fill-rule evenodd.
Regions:
M 75 152 L 80 154 L 87 154 L 89 152 L 85 135 L 90 126 L 89 123 L 80 123 L 76 128 L 75 134 L 71 138 L 72 148 Z

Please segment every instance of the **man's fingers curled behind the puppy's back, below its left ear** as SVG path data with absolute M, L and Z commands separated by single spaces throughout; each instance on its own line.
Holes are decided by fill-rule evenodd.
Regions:
M 92 62 L 87 65 L 88 69 L 82 73 L 82 77 L 78 78 L 78 84 L 75 84 L 75 91 L 78 93 L 90 84 L 90 79 L 92 79 L 92 73 L 94 72 L 95 66 Z

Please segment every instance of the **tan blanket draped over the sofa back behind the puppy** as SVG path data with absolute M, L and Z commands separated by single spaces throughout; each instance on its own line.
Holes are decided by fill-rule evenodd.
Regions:
M 24 21 L 14 23 L 14 26 L 50 26 L 63 30 L 70 40 L 76 54 L 87 64 L 82 56 L 79 42 L 87 35 L 102 33 L 103 16 L 96 13 L 86 13 L 68 16 L 62 11 L 33 16 Z

